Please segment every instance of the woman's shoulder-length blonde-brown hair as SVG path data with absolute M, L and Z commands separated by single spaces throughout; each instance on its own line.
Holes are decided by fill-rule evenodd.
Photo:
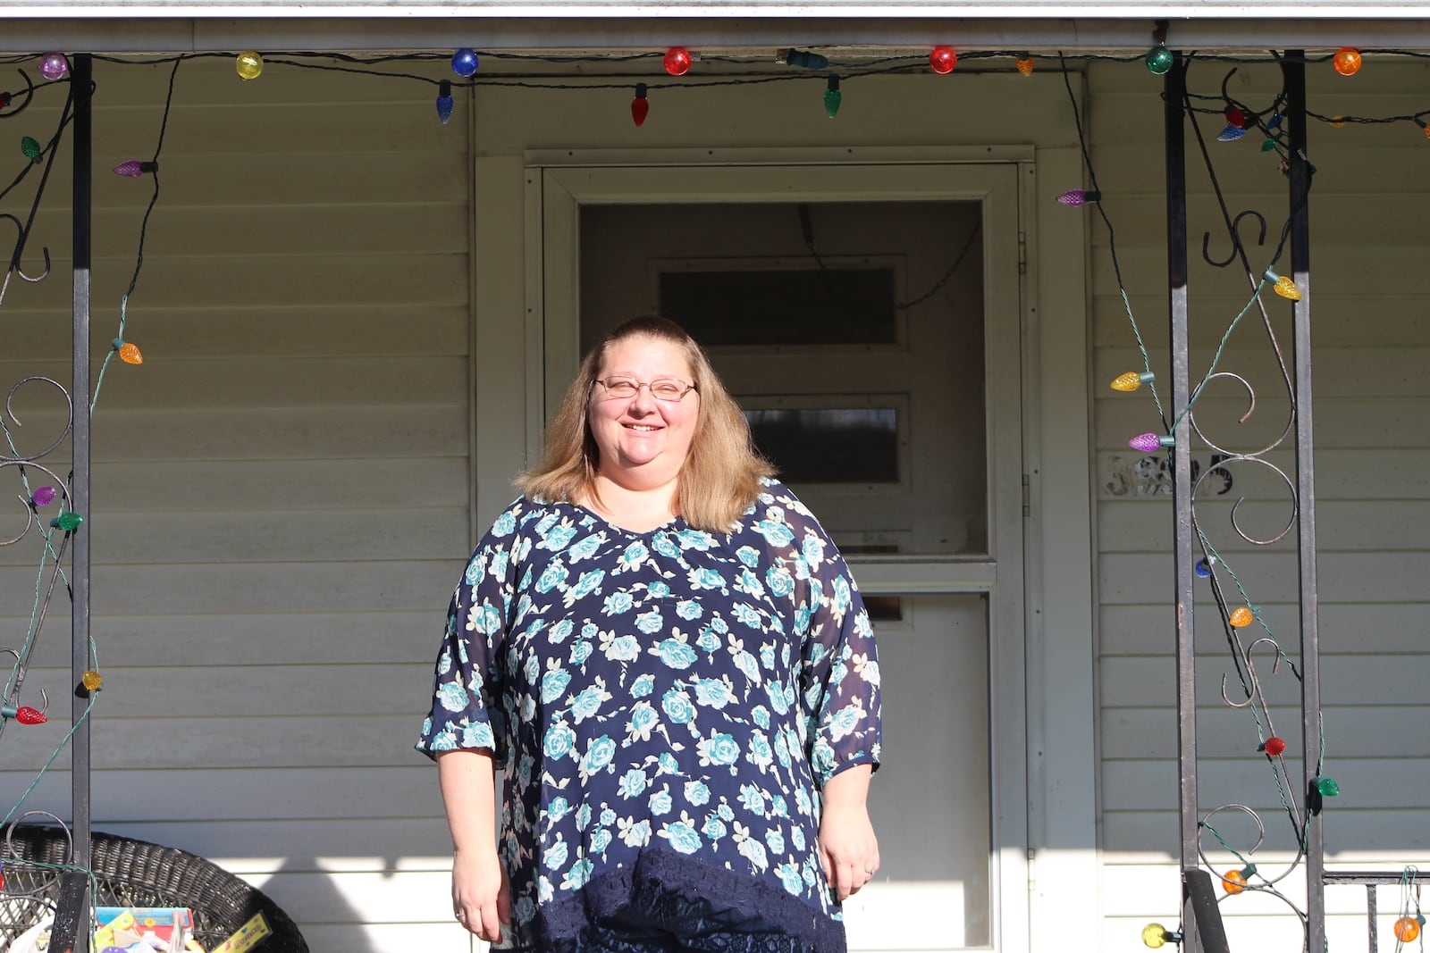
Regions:
M 536 500 L 596 499 L 601 450 L 586 417 L 591 390 L 611 349 L 631 337 L 669 341 L 681 349 L 691 367 L 701 406 L 675 490 L 675 512 L 695 529 L 728 533 L 759 496 L 761 477 L 775 469 L 755 450 L 745 414 L 715 374 L 709 357 L 684 327 L 664 317 L 623 321 L 586 354 L 546 427 L 541 464 L 521 474 L 516 484 Z

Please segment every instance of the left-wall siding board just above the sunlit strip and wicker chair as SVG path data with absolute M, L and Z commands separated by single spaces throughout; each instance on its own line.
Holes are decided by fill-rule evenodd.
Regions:
M 23 792 L 33 780 L 27 772 L 0 772 L 0 792 Z M 102 770 L 92 774 L 90 809 L 94 827 L 116 830 L 132 824 L 163 824 L 183 819 L 217 822 L 237 826 L 255 820 L 266 826 L 283 822 L 353 820 L 360 824 L 316 826 L 332 836 L 335 830 L 356 833 L 365 829 L 369 837 L 382 837 L 398 822 L 429 819 L 442 813 L 436 770 L 425 757 L 413 759 L 408 767 L 249 767 L 222 777 L 212 773 L 174 772 L 163 784 L 153 783 L 153 774 L 142 767 Z M 16 794 L 17 797 L 19 794 Z M 70 796 L 70 773 L 50 770 L 30 794 L 33 804 L 60 804 Z M 285 824 L 295 827 L 296 824 Z M 410 824 L 408 824 L 410 827 Z M 134 834 L 129 834 L 134 836 Z M 164 843 L 160 840 L 159 843 Z M 386 854 L 392 844 L 368 847 L 365 839 L 336 844 L 362 844 L 376 856 Z M 232 850 L 232 847 L 230 847 Z M 448 849 L 450 850 L 450 849 Z

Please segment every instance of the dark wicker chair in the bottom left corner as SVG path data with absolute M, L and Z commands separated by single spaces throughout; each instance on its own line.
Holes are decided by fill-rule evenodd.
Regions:
M 194 937 L 204 949 L 213 949 L 262 913 L 272 933 L 255 947 L 259 953 L 307 953 L 297 924 L 276 903 L 197 854 L 100 832 L 92 833 L 90 844 L 96 906 L 189 907 Z M 49 824 L 16 824 L 9 837 L 0 837 L 0 949 L 51 912 L 59 896 L 56 872 L 27 860 L 69 863 L 66 832 Z

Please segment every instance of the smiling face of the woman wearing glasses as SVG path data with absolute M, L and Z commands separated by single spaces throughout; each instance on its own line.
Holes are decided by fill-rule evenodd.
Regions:
M 649 384 L 662 377 L 694 383 L 679 346 L 658 337 L 628 337 L 608 351 L 596 379 L 629 377 Z M 695 436 L 701 396 L 691 390 L 679 400 L 658 400 L 649 387 L 632 397 L 615 397 L 596 383 L 586 420 L 601 449 L 601 473 L 628 489 L 664 486 L 681 473 Z

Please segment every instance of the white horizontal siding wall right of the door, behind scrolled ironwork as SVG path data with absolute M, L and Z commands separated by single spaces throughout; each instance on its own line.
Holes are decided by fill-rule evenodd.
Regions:
M 1193 91 L 1214 93 L 1230 64 L 1198 63 Z M 1170 407 L 1167 353 L 1165 173 L 1163 104 L 1148 87 L 1160 86 L 1137 70 L 1098 64 L 1088 73 L 1093 163 L 1113 219 L 1117 253 L 1131 309 L 1153 354 L 1163 401 Z M 1423 66 L 1367 60 L 1354 79 L 1328 64 L 1308 70 L 1310 107 L 1326 114 L 1396 116 L 1414 113 L 1414 90 L 1423 87 Z M 1241 66 L 1231 80 L 1237 99 L 1264 107 L 1280 89 L 1267 66 Z M 1200 106 L 1220 110 L 1217 100 Z M 1277 157 L 1258 151 L 1263 136 L 1220 143 L 1226 126 L 1217 111 L 1200 116 L 1207 150 L 1227 196 L 1231 216 L 1256 209 L 1267 217 L 1267 244 L 1256 244 L 1257 227 L 1243 220 L 1241 234 L 1260 274 L 1288 211 L 1288 186 Z M 1227 324 L 1246 306 L 1250 284 L 1240 264 L 1218 270 L 1203 261 L 1201 239 L 1211 231 L 1210 253 L 1224 259 L 1230 243 L 1221 214 L 1188 127 L 1188 249 L 1193 377 L 1205 371 Z M 1430 323 L 1424 320 L 1423 260 L 1430 197 L 1423 184 L 1426 140 L 1410 123 L 1334 129 L 1310 124 L 1310 160 L 1317 173 L 1310 194 L 1313 403 L 1316 426 L 1316 520 L 1318 543 L 1321 694 L 1324 772 L 1340 782 L 1340 797 L 1327 800 L 1326 859 L 1330 867 L 1396 870 L 1424 863 L 1430 846 L 1424 779 L 1430 743 L 1423 724 L 1424 684 L 1430 679 L 1426 642 L 1430 574 Z M 1148 430 L 1163 431 L 1147 389 L 1134 394 L 1111 390 L 1108 381 L 1125 370 L 1143 370 L 1131 326 L 1113 274 L 1107 229 L 1091 214 L 1093 236 L 1093 387 L 1095 399 L 1095 486 L 1098 570 L 1100 764 L 1103 814 L 1103 949 L 1141 949 L 1140 932 L 1150 920 L 1174 927 L 1177 880 L 1177 716 L 1175 616 L 1173 604 L 1171 496 L 1138 494 L 1145 482 L 1135 473 L 1141 459 L 1125 441 Z M 1290 253 L 1276 266 L 1290 273 Z M 1273 327 L 1293 356 L 1290 306 L 1264 294 Z M 1287 397 L 1270 357 L 1260 313 L 1253 309 L 1231 336 L 1220 370 L 1248 377 L 1257 393 L 1256 413 L 1246 424 L 1246 394 L 1230 384 L 1213 386 L 1204 416 L 1214 421 L 1207 436 L 1234 447 L 1264 446 L 1286 426 Z M 1174 413 L 1174 410 L 1171 410 Z M 1260 441 L 1257 444 L 1256 441 Z M 1294 433 L 1268 454 L 1294 480 Z M 1194 460 L 1207 464 L 1208 450 L 1194 444 Z M 1241 464 L 1226 497 L 1198 499 L 1203 529 L 1224 553 L 1260 606 L 1277 640 L 1300 659 L 1297 557 L 1294 530 L 1278 544 L 1253 547 L 1227 520 L 1228 503 L 1246 496 L 1243 523 L 1274 534 L 1290 519 L 1290 494 L 1268 471 Z M 1131 477 L 1128 480 L 1128 477 Z M 1267 533 L 1268 527 L 1270 532 Z M 1241 599 L 1223 576 L 1233 607 Z M 1197 586 L 1197 697 L 1200 799 L 1203 812 L 1240 802 L 1256 807 L 1267 824 L 1267 846 L 1253 857 L 1264 872 L 1281 872 L 1290 860 L 1288 822 L 1267 759 L 1257 753 L 1257 726 L 1247 710 L 1221 703 L 1223 673 L 1230 692 L 1238 683 L 1227 640 L 1221 634 L 1210 584 Z M 1258 629 L 1243 630 L 1250 644 Z M 1271 702 L 1277 734 L 1298 753 L 1298 687 L 1286 666 L 1271 674 L 1273 656 L 1253 656 Z M 1244 697 L 1244 696 L 1241 696 Z M 1293 779 L 1300 762 L 1290 762 Z M 1298 780 L 1294 782 L 1298 786 Z M 1300 790 L 1296 792 L 1301 799 Z M 1237 812 L 1214 823 L 1238 849 L 1254 833 Z M 1207 837 L 1216 870 L 1240 867 Z M 1304 896 L 1304 867 L 1283 889 Z M 1220 896 L 1218 890 L 1218 896 Z M 1328 887 L 1333 949 L 1364 949 L 1366 892 Z M 1389 934 L 1399 916 L 1393 889 L 1381 892 L 1380 930 Z M 1298 943 L 1290 910 L 1267 897 L 1243 894 L 1221 906 L 1233 949 Z

